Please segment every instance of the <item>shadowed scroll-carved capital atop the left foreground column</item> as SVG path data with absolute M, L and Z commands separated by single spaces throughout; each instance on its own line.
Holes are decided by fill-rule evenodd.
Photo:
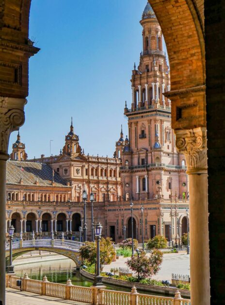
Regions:
M 8 159 L 9 136 L 18 130 L 25 121 L 24 105 L 26 99 L 0 97 L 0 154 Z M 5 156 L 5 157 L 3 157 Z

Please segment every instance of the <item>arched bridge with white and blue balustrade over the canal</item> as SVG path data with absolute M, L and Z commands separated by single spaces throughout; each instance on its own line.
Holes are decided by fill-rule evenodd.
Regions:
M 50 251 L 71 258 L 77 268 L 81 265 L 82 242 L 64 239 L 32 239 L 13 242 L 13 259 L 30 251 Z M 9 260 L 9 243 L 6 244 L 6 260 Z

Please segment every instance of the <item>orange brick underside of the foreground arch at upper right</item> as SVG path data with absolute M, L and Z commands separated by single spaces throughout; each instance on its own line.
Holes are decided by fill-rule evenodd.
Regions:
M 149 0 L 166 42 L 171 90 L 205 84 L 204 33 L 192 0 Z

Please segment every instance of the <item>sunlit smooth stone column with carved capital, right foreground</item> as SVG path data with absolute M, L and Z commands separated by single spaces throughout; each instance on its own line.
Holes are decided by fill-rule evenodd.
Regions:
M 177 150 L 185 155 L 189 175 L 191 300 L 193 305 L 210 304 L 206 127 L 175 133 Z

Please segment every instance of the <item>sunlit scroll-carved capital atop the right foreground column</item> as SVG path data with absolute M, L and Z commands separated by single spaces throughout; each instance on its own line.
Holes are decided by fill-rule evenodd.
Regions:
M 206 127 L 175 130 L 175 134 L 177 150 L 186 159 L 187 173 L 207 173 Z

